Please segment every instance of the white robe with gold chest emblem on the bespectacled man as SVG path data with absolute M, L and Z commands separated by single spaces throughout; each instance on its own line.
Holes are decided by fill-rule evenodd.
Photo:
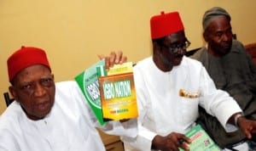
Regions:
M 138 136 L 122 137 L 125 150 L 148 151 L 155 135 L 166 136 L 172 131 L 184 133 L 198 116 L 198 105 L 211 115 L 217 116 L 226 131 L 236 127 L 227 120 L 241 112 L 238 104 L 227 92 L 217 90 L 200 62 L 183 57 L 180 65 L 163 72 L 154 64 L 152 57 L 143 59 L 134 68 L 134 78 L 139 106 Z M 198 98 L 184 98 L 179 90 L 198 93 Z

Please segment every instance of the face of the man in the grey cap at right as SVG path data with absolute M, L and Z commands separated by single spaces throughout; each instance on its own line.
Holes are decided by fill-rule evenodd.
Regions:
M 224 16 L 212 20 L 204 32 L 204 38 L 208 43 L 210 53 L 215 56 L 223 56 L 229 53 L 232 46 L 232 35 L 230 21 Z

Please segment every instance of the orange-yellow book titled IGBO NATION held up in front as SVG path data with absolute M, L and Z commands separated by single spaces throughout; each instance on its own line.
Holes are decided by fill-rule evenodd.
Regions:
M 137 97 L 132 63 L 115 64 L 107 72 L 101 70 L 99 88 L 104 120 L 137 118 Z

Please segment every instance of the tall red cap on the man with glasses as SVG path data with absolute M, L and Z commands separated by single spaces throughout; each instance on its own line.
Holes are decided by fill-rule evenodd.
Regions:
M 155 15 L 150 20 L 151 38 L 158 39 L 163 36 L 171 35 L 177 31 L 183 31 L 183 22 L 177 12 Z

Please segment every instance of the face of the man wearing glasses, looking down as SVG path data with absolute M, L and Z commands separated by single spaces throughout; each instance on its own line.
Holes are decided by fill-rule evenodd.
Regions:
M 163 71 L 172 70 L 181 63 L 189 43 L 184 31 L 178 31 L 166 36 L 158 47 L 154 47 L 154 63 Z

